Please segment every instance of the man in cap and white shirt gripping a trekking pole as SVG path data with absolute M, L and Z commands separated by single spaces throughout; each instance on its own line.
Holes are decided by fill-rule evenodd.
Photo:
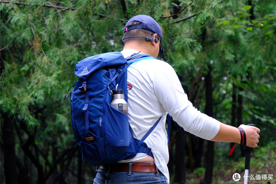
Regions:
M 128 67 L 128 114 L 134 138 L 140 140 L 164 114 L 144 141 L 151 148 L 154 158 L 138 153 L 133 159 L 107 167 L 99 166 L 94 183 L 169 183 L 165 128 L 167 113 L 185 131 L 207 140 L 240 143 L 243 131 L 247 146 L 256 147 L 259 142 L 258 128 L 241 125 L 240 131 L 200 113 L 192 106 L 174 69 L 168 63 L 156 59 L 158 53 L 164 53 L 161 39 L 162 32 L 158 23 L 147 15 L 137 15 L 124 27 L 124 48 L 121 51 L 125 58 L 134 53 L 154 57 L 133 62 Z M 127 169 L 122 169 L 125 166 Z M 141 169 L 133 172 L 134 167 Z

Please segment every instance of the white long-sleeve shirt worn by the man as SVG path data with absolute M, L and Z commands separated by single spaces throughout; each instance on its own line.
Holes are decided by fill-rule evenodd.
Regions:
M 123 50 L 128 57 L 137 50 Z M 133 62 L 128 67 L 129 124 L 134 138 L 141 140 L 155 122 L 163 115 L 152 133 L 145 139 L 151 148 L 154 162 L 168 178 L 168 138 L 165 128 L 169 113 L 183 129 L 198 137 L 211 140 L 219 131 L 219 121 L 201 113 L 189 102 L 174 69 L 166 62 L 149 58 Z M 134 162 L 148 155 L 138 153 L 136 157 L 121 162 Z

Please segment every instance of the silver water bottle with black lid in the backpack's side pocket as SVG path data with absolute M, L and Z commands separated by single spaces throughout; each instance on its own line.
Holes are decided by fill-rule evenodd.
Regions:
M 116 87 L 117 88 L 117 87 Z M 110 105 L 118 109 L 120 112 L 128 115 L 128 103 L 124 100 L 124 90 L 112 90 L 112 102 Z

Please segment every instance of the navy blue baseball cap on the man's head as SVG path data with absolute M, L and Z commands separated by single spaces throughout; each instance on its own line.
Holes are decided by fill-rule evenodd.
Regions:
M 151 31 L 153 33 L 156 33 L 160 37 L 159 53 L 164 54 L 164 50 L 163 50 L 163 46 L 162 46 L 162 42 L 161 42 L 161 39 L 163 36 L 162 36 L 161 28 L 158 25 L 158 23 L 152 17 L 150 17 L 148 15 L 136 15 L 136 16 L 132 17 L 131 19 L 129 19 L 128 22 L 126 23 L 126 25 L 128 25 L 128 23 L 133 22 L 133 21 L 140 21 L 140 22 L 142 22 L 142 24 L 133 25 L 133 26 L 129 26 L 129 27 L 124 26 L 124 33 L 131 29 L 145 29 L 145 30 Z

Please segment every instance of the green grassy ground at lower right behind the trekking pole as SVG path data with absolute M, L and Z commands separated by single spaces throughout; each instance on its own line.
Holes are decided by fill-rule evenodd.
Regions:
M 238 150 L 235 151 L 238 152 Z M 244 157 L 233 161 L 229 157 L 227 159 L 224 153 L 224 156 L 215 156 L 215 162 L 212 184 L 243 184 L 245 172 Z M 240 181 L 232 179 L 235 173 L 240 174 Z M 204 174 L 205 169 L 202 167 L 197 168 L 193 173 L 187 173 L 186 184 L 199 184 Z M 248 184 L 276 184 L 276 142 L 270 142 L 264 147 L 258 146 L 254 148 L 250 161 L 249 176 L 251 175 L 254 177 L 254 180 L 252 177 L 251 179 L 248 178 Z M 265 179 L 265 177 L 267 178 Z

